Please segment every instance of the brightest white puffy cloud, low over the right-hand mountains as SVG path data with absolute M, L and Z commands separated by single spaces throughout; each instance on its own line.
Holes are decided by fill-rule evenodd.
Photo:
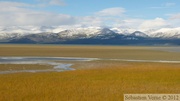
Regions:
M 168 26 L 168 23 L 163 18 L 155 18 L 153 20 L 144 20 L 142 24 L 139 25 L 139 29 L 148 30 L 148 29 L 157 29 L 161 27 Z

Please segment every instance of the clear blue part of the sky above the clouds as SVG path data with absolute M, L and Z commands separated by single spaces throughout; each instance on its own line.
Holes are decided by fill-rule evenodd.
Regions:
M 28 0 L 20 0 L 28 1 Z M 41 0 L 40 0 L 41 1 Z M 43 1 L 43 0 L 42 0 Z M 48 1 L 48 0 L 44 0 Z M 88 16 L 94 12 L 107 8 L 121 7 L 126 10 L 129 17 L 141 17 L 145 19 L 162 17 L 167 14 L 178 13 L 179 0 L 60 0 L 64 5 L 51 5 L 44 10 L 56 13 L 64 13 L 72 16 Z M 26 3 L 26 2 L 25 2 Z M 30 1 L 29 1 L 30 3 Z M 31 0 L 31 3 L 41 3 L 38 0 Z M 43 10 L 42 9 L 42 10 Z

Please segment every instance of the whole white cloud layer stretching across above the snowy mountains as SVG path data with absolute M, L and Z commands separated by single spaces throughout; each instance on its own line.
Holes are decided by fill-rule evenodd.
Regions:
M 41 0 L 61 5 L 62 0 Z M 167 4 L 172 5 L 172 4 Z M 107 26 L 122 29 L 148 30 L 180 25 L 180 13 L 171 14 L 168 20 L 134 19 L 127 18 L 124 8 L 114 7 L 103 9 L 94 15 L 75 17 L 67 14 L 58 14 L 45 11 L 35 11 L 36 6 L 20 2 L 0 2 L 0 26 Z

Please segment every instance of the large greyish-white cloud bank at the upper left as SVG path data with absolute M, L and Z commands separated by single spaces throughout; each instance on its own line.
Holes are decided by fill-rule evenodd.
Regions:
M 29 9 L 31 5 L 18 2 L 0 2 L 1 26 L 26 25 L 72 25 L 75 17 L 66 14 L 57 14 Z

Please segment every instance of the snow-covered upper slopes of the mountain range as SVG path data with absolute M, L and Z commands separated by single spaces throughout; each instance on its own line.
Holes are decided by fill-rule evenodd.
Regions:
M 105 34 L 110 37 L 113 34 L 133 35 L 138 37 L 152 37 L 152 38 L 180 38 L 180 27 L 178 28 L 161 28 L 150 29 L 147 31 L 137 31 L 132 28 L 102 28 L 93 26 L 0 26 L 0 39 L 20 38 L 29 34 L 52 35 L 58 34 L 64 37 L 90 38 L 92 36 L 104 36 Z

